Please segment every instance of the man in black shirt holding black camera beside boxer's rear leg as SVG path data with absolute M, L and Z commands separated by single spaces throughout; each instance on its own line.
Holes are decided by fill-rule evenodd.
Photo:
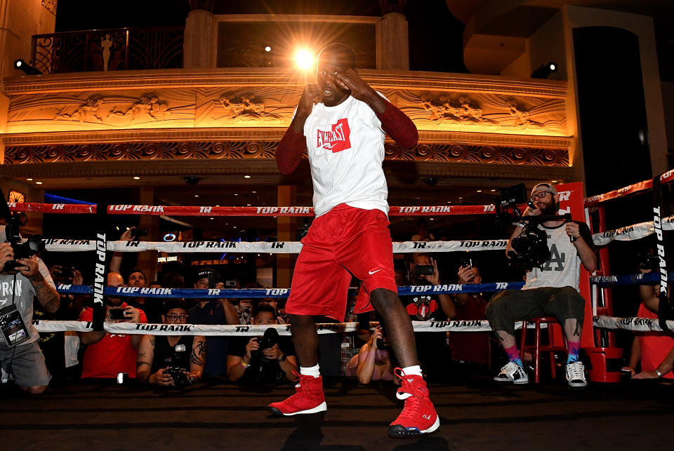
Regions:
M 268 304 L 259 305 L 253 315 L 253 324 L 276 324 L 276 312 Z M 266 335 L 266 332 L 265 332 Z M 297 358 L 295 348 L 287 337 L 278 337 L 273 346 L 260 351 L 263 337 L 237 337 L 230 344 L 227 354 L 227 376 L 230 381 L 265 384 L 296 379 Z

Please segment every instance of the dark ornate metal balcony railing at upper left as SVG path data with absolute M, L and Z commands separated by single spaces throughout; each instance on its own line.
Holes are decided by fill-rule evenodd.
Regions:
M 185 27 L 93 29 L 36 34 L 34 67 L 44 74 L 183 67 Z

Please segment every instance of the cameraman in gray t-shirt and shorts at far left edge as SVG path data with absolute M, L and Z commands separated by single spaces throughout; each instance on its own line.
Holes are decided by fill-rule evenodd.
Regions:
M 37 298 L 46 311 L 53 313 L 58 310 L 60 296 L 53 288 L 53 282 L 48 283 L 41 274 L 37 257 L 15 260 L 18 266 L 8 271 L 7 262 L 13 261 L 12 245 L 0 243 L 0 286 L 2 288 L 0 308 L 8 309 L 13 305 L 13 309 L 18 310 L 28 339 L 15 346 L 8 346 L 4 334 L 0 334 L 0 361 L 2 370 L 12 376 L 15 384 L 29 393 L 39 394 L 47 389 L 51 375 L 47 371 L 44 356 L 37 344 L 39 334 L 32 325 L 33 297 Z

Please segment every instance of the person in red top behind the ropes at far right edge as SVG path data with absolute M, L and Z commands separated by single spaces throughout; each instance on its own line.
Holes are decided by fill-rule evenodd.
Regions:
M 649 258 L 650 257 L 650 258 Z M 655 262 L 653 262 L 653 258 Z M 639 272 L 647 274 L 659 265 L 656 255 L 647 255 L 639 264 Z M 657 269 L 656 269 L 657 271 Z M 659 311 L 660 285 L 639 285 L 641 303 L 637 316 L 639 318 L 657 319 Z M 670 332 L 635 332 L 630 361 L 621 369 L 634 379 L 651 379 L 664 377 L 674 379 L 671 371 L 674 354 L 674 338 Z M 670 356 L 670 354 L 672 354 Z M 637 364 L 641 363 L 641 372 L 637 374 Z

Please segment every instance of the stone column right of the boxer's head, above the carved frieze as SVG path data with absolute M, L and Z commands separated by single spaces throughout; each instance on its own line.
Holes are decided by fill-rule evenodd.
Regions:
M 407 18 L 401 13 L 383 15 L 376 25 L 377 69 L 409 70 Z

